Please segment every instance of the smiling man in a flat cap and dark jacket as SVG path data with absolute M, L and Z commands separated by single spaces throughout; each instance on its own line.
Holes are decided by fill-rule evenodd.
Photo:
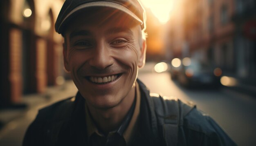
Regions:
M 66 0 L 55 27 L 79 92 L 75 100 L 40 110 L 24 146 L 235 145 L 195 107 L 151 97 L 137 80 L 146 51 L 144 9 L 137 0 Z M 168 124 L 173 120 L 176 125 Z

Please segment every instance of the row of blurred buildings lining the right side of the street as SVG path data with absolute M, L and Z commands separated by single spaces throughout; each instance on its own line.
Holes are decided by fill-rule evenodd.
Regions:
M 168 48 L 173 58 L 191 57 L 218 66 L 241 86 L 255 88 L 255 3 L 181 0 L 169 22 Z

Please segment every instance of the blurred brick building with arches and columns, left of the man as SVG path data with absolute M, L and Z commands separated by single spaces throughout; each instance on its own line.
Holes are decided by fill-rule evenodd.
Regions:
M 54 21 L 64 0 L 0 1 L 0 107 L 42 93 L 63 74 L 61 35 Z

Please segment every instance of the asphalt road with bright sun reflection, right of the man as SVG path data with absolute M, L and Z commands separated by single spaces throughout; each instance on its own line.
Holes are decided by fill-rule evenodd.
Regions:
M 256 146 L 256 97 L 229 88 L 186 89 L 171 80 L 169 73 L 139 73 L 151 92 L 192 101 L 208 113 L 238 146 Z

